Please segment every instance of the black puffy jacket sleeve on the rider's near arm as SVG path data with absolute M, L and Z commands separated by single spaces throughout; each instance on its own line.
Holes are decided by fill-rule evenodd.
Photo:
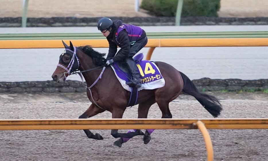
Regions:
M 114 56 L 114 58 L 112 58 L 115 62 L 126 59 L 130 52 L 129 35 L 126 30 L 119 32 L 117 38 L 117 41 L 121 45 L 121 50 L 116 54 L 116 56 Z

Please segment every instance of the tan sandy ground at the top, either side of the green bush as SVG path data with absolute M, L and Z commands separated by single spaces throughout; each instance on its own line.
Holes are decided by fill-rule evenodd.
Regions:
M 143 17 L 135 12 L 135 0 L 30 0 L 28 17 Z M 141 0 L 139 1 L 141 3 Z M 22 0 L 0 0 L 0 17 L 21 17 Z M 268 17 L 267 0 L 221 0 L 220 17 Z

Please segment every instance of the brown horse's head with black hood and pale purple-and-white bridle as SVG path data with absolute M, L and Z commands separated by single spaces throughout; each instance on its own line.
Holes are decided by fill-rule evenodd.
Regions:
M 59 64 L 52 74 L 53 81 L 63 82 L 67 76 L 79 68 L 79 59 L 76 55 L 76 48 L 70 41 L 70 46 L 62 41 L 65 50 L 60 55 Z

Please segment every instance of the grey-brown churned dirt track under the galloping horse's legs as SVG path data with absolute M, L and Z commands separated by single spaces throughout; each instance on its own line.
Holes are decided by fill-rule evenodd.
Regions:
M 179 102 L 177 102 L 179 101 Z M 173 118 L 212 118 L 197 101 L 170 103 Z M 222 102 L 220 118 L 268 117 L 268 101 L 228 100 Z M 88 102 L 1 103 L 0 119 L 78 118 Z M 149 118 L 160 118 L 154 104 Z M 124 118 L 136 118 L 137 106 L 127 109 Z M 109 112 L 93 118 L 111 118 Z M 122 130 L 126 131 L 126 130 Z M 156 130 L 144 145 L 141 136 L 122 148 L 110 130 L 92 130 L 104 140 L 88 139 L 82 130 L 0 131 L 0 160 L 206 160 L 205 144 L 198 130 Z M 268 129 L 209 130 L 215 160 L 267 160 Z

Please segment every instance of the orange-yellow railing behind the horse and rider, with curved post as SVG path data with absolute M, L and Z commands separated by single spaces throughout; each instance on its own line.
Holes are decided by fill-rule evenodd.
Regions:
M 64 40 L 67 44 L 69 40 Z M 90 45 L 94 48 L 107 48 L 103 39 L 71 40 L 74 46 Z M 217 46 L 268 46 L 268 38 L 179 38 L 148 39 L 145 47 L 151 47 L 146 60 L 152 56 L 155 47 L 217 47 Z M 0 40 L 0 49 L 63 48 L 61 40 Z

